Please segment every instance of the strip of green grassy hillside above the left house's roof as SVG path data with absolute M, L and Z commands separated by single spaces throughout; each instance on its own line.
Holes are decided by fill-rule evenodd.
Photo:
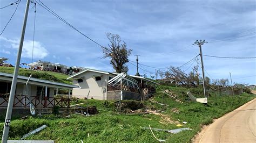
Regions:
M 13 74 L 14 67 L 0 67 L 0 72 Z M 31 74 L 31 70 L 19 68 L 19 75 L 29 77 L 30 74 Z M 56 72 L 52 72 L 52 71 L 32 70 L 32 77 L 35 77 L 35 78 L 38 78 L 41 80 L 72 84 L 71 80 L 66 80 L 66 78 L 68 78 L 69 75 L 62 74 L 62 73 L 56 73 Z

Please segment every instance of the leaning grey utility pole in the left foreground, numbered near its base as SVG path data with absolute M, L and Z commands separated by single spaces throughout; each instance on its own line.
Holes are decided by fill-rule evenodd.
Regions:
M 2 135 L 2 143 L 7 142 L 8 134 L 9 134 L 9 130 L 10 130 L 12 106 L 14 105 L 14 96 L 15 96 L 15 90 L 16 90 L 16 85 L 17 85 L 19 63 L 21 62 L 21 54 L 22 54 L 22 47 L 23 47 L 25 30 L 26 30 L 26 20 L 28 19 L 29 4 L 30 4 L 30 0 L 27 0 L 24 21 L 23 21 L 23 26 L 22 26 L 21 41 L 19 41 L 19 48 L 18 48 L 15 69 L 14 69 L 14 76 L 12 77 L 12 82 L 11 82 L 11 91 L 10 91 L 10 97 L 9 97 L 7 111 L 6 111 L 4 131 L 3 131 L 3 135 Z

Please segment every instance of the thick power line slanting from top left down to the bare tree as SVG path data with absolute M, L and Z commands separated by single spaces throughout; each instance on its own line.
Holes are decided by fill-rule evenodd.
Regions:
M 90 37 L 88 37 L 87 35 L 85 35 L 84 33 L 80 32 L 79 30 L 77 30 L 76 27 L 72 26 L 70 23 L 66 22 L 66 20 L 64 20 L 62 17 L 60 17 L 59 15 L 57 15 L 54 11 L 52 11 L 48 6 L 46 6 L 44 3 L 42 3 L 40 0 L 38 3 L 40 6 L 42 6 L 42 8 L 44 8 L 45 10 L 47 10 L 48 12 L 50 12 L 53 16 L 57 17 L 59 20 L 61 20 L 63 23 L 65 23 L 66 25 L 70 26 L 71 28 L 73 28 L 73 30 L 77 31 L 78 33 L 82 34 L 84 37 L 86 37 L 87 39 L 91 40 L 92 42 L 94 42 L 95 44 L 99 45 L 100 47 L 103 47 L 102 45 L 100 45 L 98 42 L 96 42 L 95 40 L 92 40 Z

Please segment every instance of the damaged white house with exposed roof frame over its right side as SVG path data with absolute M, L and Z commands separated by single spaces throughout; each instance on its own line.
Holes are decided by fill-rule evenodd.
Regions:
M 85 69 L 68 79 L 79 87 L 72 90 L 73 97 L 86 98 L 90 91 L 89 98 L 99 100 L 140 100 L 156 92 L 155 85 L 158 84 L 140 76 L 96 69 Z

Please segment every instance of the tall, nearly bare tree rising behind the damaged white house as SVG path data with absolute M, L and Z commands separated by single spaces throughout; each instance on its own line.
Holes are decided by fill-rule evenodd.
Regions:
M 109 47 L 102 47 L 103 58 L 110 58 L 110 64 L 117 73 L 127 73 L 129 70 L 126 63 L 129 62 L 128 56 L 131 55 L 132 49 L 126 48 L 126 43 L 120 38 L 118 34 L 106 33 L 109 39 Z

